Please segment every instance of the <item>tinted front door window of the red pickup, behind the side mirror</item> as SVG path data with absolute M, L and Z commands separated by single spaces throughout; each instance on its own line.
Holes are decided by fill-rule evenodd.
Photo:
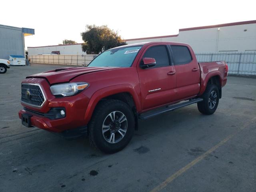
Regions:
M 170 65 L 167 49 L 164 45 L 158 45 L 148 48 L 148 50 L 146 50 L 143 55 L 143 58 L 145 57 L 154 58 L 156 60 L 156 65 L 154 66 L 154 68 Z

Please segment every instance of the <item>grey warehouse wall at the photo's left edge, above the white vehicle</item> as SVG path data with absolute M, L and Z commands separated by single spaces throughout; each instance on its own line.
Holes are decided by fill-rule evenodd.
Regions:
M 22 28 L 0 25 L 0 59 L 9 59 L 9 55 L 24 56 L 23 38 Z

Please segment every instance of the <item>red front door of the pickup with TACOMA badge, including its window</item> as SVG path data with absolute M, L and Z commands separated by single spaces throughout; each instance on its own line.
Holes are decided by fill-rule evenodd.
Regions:
M 142 110 L 148 110 L 176 100 L 176 74 L 165 44 L 148 46 L 142 58 L 154 58 L 156 66 L 142 69 L 137 66 L 140 79 Z

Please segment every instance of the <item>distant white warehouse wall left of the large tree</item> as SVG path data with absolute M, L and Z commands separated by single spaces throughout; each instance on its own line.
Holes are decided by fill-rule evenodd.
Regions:
M 47 54 L 52 51 L 60 51 L 61 55 L 85 55 L 86 52 L 82 52 L 81 44 L 74 45 L 56 45 L 56 46 L 42 46 L 42 47 L 28 47 L 28 54 L 38 55 Z

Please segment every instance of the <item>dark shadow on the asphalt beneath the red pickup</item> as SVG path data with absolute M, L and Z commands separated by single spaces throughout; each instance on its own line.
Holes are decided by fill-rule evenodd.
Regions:
M 192 106 L 176 110 L 175 112 L 166 112 L 165 114 L 155 116 L 148 120 L 139 120 L 139 129 L 134 132 L 132 142 L 128 144 L 128 146 L 136 144 L 136 142 L 141 140 L 142 136 L 146 140 L 151 140 L 154 139 L 153 137 L 157 137 L 158 134 L 171 134 L 170 130 L 190 130 L 196 128 L 198 119 L 203 121 L 205 118 L 208 118 L 208 116 L 201 115 L 196 106 Z M 30 151 L 36 148 L 40 150 L 41 154 L 45 153 L 54 156 L 65 156 L 66 154 L 73 158 L 83 156 L 86 159 L 108 156 L 92 148 L 87 136 L 82 136 L 75 140 L 65 140 L 55 134 L 43 131 L 37 134 L 37 136 L 40 138 L 45 137 L 46 139 L 33 142 Z M 34 140 L 34 138 L 31 139 Z

